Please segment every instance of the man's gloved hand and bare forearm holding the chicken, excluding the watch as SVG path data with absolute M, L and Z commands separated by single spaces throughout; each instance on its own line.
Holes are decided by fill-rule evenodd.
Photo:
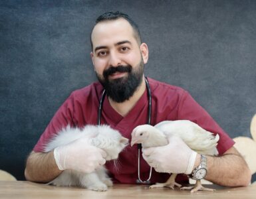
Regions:
M 194 152 L 180 137 L 172 135 L 168 141 L 169 144 L 162 147 L 143 149 L 145 161 L 157 172 L 190 174 L 199 165 L 201 155 L 193 158 Z M 192 169 L 188 169 L 192 164 Z M 219 157 L 207 156 L 205 179 L 221 186 L 247 186 L 251 182 L 251 171 L 243 157 L 231 147 Z

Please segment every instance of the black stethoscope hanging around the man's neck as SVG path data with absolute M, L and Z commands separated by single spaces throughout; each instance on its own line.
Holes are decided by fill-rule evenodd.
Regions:
M 151 121 L 151 106 L 152 106 L 152 99 L 151 99 L 151 90 L 150 90 L 150 84 L 148 84 L 148 79 L 145 78 L 145 82 L 146 82 L 146 88 L 147 88 L 147 92 L 148 92 L 148 124 L 150 125 L 150 121 Z M 102 92 L 102 97 L 100 99 L 100 104 L 98 106 L 98 125 L 100 125 L 100 118 L 101 118 L 101 112 L 102 112 L 102 105 L 103 105 L 103 101 L 104 98 L 106 96 L 106 91 L 103 90 Z M 136 180 L 137 184 L 150 184 L 150 178 L 152 175 L 152 167 L 150 167 L 150 174 L 148 176 L 147 180 L 142 180 L 140 178 L 140 150 L 142 149 L 142 145 L 138 144 L 138 179 Z

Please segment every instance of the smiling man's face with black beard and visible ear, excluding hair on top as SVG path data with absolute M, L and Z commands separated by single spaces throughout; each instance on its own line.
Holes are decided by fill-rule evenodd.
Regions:
M 146 44 L 139 46 L 125 19 L 103 21 L 92 31 L 92 62 L 96 76 L 112 100 L 128 100 L 143 78 L 148 61 Z

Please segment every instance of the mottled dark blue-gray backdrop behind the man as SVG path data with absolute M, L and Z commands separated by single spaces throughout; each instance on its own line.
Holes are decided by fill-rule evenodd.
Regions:
M 1 1 L 0 169 L 25 159 L 72 90 L 92 81 L 90 30 L 123 11 L 140 27 L 145 74 L 181 86 L 233 137 L 256 113 L 256 1 Z

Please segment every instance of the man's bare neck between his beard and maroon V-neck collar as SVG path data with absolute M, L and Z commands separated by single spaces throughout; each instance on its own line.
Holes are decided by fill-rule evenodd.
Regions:
M 140 100 L 140 97 L 144 94 L 146 89 L 146 83 L 144 80 L 144 76 L 142 79 L 142 84 L 138 87 L 136 92 L 134 92 L 133 96 L 124 102 L 118 103 L 116 101 L 113 101 L 111 98 L 108 98 L 110 105 L 112 108 L 117 111 L 122 117 L 126 116 L 129 111 L 134 107 L 134 105 L 137 103 L 138 100 Z

